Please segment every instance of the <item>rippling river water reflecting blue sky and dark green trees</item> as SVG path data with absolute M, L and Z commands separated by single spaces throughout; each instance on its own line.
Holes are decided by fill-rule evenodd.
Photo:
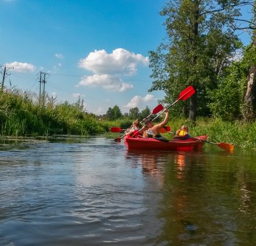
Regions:
M 104 136 L 0 147 L 0 245 L 256 245 L 256 152 Z

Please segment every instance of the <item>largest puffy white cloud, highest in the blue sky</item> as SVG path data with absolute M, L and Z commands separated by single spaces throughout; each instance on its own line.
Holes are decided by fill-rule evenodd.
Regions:
M 81 59 L 78 66 L 99 75 L 121 73 L 135 75 L 140 64 L 149 65 L 149 57 L 117 48 L 112 53 L 107 53 L 106 50 L 94 50 L 86 58 Z

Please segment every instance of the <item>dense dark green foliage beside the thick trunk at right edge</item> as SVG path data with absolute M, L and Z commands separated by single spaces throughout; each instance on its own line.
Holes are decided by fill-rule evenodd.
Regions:
M 241 119 L 244 111 L 244 95 L 250 66 L 256 65 L 256 48 L 248 45 L 243 57 L 224 70 L 217 78 L 217 88 L 208 90 L 211 102 L 208 106 L 214 117 L 224 121 Z

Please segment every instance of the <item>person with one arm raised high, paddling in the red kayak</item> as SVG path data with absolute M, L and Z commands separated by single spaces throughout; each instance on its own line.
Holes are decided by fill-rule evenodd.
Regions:
M 164 109 L 165 111 L 165 119 L 158 124 L 153 124 L 152 119 L 145 119 L 145 127 L 142 127 L 142 130 L 140 132 L 143 132 L 143 137 L 161 137 L 161 134 L 159 132 L 159 129 L 164 127 L 168 123 L 168 117 L 169 112 L 167 109 Z

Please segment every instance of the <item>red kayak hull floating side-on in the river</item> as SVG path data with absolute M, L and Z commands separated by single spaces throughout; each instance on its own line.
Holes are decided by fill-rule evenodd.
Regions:
M 207 135 L 196 137 L 205 141 Z M 153 138 L 126 138 L 128 150 L 175 150 L 175 151 L 191 151 L 196 150 L 204 144 L 203 141 L 193 139 L 173 139 L 165 141 L 164 139 Z

